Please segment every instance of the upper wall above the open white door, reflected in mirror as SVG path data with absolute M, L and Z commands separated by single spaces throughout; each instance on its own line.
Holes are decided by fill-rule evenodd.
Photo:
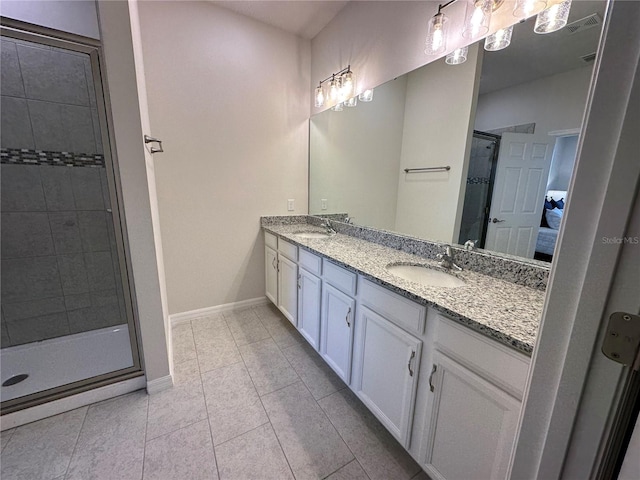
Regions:
M 536 133 L 580 128 L 592 66 L 480 95 L 476 130 L 489 131 L 526 123 Z

